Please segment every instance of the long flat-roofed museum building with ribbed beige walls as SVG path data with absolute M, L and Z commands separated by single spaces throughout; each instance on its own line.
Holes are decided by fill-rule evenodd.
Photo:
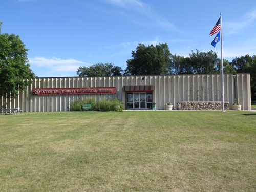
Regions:
M 207 108 L 196 110 L 216 110 L 222 95 L 221 74 L 42 77 L 15 98 L 0 97 L 0 104 L 2 109 L 20 108 L 22 112 L 69 111 L 71 101 L 95 97 L 118 98 L 125 109 L 150 109 L 156 103 L 156 110 L 164 110 L 170 102 L 173 110 L 184 110 L 182 103 L 203 103 Z M 226 109 L 236 99 L 242 110 L 251 110 L 250 95 L 249 73 L 224 74 Z

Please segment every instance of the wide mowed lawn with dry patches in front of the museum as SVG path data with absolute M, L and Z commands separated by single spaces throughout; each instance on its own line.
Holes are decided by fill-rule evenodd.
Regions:
M 2 115 L 0 191 L 256 191 L 256 113 Z

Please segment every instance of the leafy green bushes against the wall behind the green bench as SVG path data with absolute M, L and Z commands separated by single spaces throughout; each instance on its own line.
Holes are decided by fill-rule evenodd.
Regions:
M 102 99 L 97 101 L 96 98 L 88 98 L 87 100 L 78 100 L 70 102 L 71 111 L 83 111 L 83 104 L 91 104 L 92 111 L 122 111 L 123 102 L 114 98 L 112 100 Z

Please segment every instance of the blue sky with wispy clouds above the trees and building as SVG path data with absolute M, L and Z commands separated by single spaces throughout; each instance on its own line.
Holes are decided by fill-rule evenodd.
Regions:
M 211 49 L 222 13 L 223 56 L 256 54 L 256 1 L 0 0 L 2 33 L 19 35 L 39 77 L 77 76 L 79 66 L 126 68 L 138 43 L 167 43 L 172 54 Z

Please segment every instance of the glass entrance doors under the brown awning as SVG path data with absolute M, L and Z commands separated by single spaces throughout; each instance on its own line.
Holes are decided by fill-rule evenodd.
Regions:
M 152 103 L 152 93 L 127 93 L 126 104 L 129 108 L 146 109 L 149 102 Z

